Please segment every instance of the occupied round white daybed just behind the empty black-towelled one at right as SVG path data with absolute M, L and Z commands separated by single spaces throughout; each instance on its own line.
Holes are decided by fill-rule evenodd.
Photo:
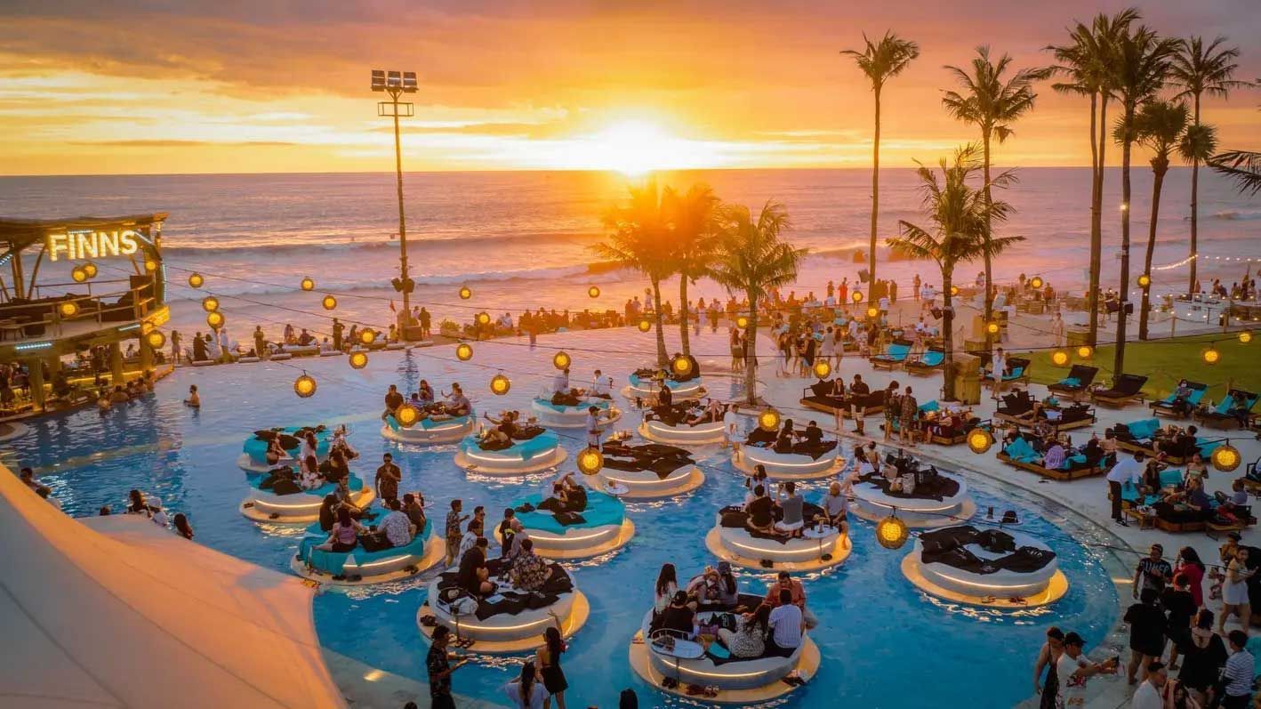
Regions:
M 897 511 L 910 527 L 944 527 L 966 521 L 976 513 L 976 502 L 967 493 L 963 478 L 937 473 L 929 482 L 917 484 L 914 492 L 890 491 L 885 478 L 863 476 L 854 481 L 854 513 L 878 521 Z

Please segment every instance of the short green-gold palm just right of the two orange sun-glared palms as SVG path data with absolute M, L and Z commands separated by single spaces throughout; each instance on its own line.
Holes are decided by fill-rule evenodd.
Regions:
M 721 211 L 721 246 L 709 276 L 728 293 L 743 293 L 749 300 L 748 348 L 744 353 L 744 390 L 749 404 L 758 396 L 758 304 L 767 293 L 797 280 L 805 249 L 783 241 L 791 228 L 784 206 L 768 201 L 757 220 L 749 208 L 730 204 Z

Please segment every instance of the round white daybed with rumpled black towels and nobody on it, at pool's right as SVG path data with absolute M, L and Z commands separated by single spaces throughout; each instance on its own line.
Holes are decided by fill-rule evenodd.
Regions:
M 1033 546 L 1050 551 L 1045 544 L 1031 536 L 1004 531 L 1015 539 L 1018 549 Z M 968 544 L 965 549 L 984 560 L 1006 555 L 986 551 L 976 544 Z M 1034 571 L 1000 569 L 992 574 L 981 574 L 939 561 L 924 564 L 923 553 L 923 544 L 915 540 L 914 549 L 902 560 L 902 573 L 924 593 L 946 601 L 990 608 L 1033 608 L 1054 603 L 1068 593 L 1068 577 L 1059 569 L 1055 559 Z

